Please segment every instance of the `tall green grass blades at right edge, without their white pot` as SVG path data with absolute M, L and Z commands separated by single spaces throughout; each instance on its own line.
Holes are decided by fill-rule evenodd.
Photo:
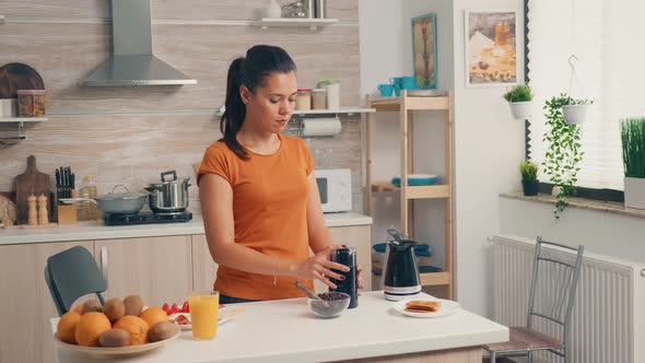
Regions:
M 645 178 L 645 117 L 623 120 L 620 134 L 625 176 Z

